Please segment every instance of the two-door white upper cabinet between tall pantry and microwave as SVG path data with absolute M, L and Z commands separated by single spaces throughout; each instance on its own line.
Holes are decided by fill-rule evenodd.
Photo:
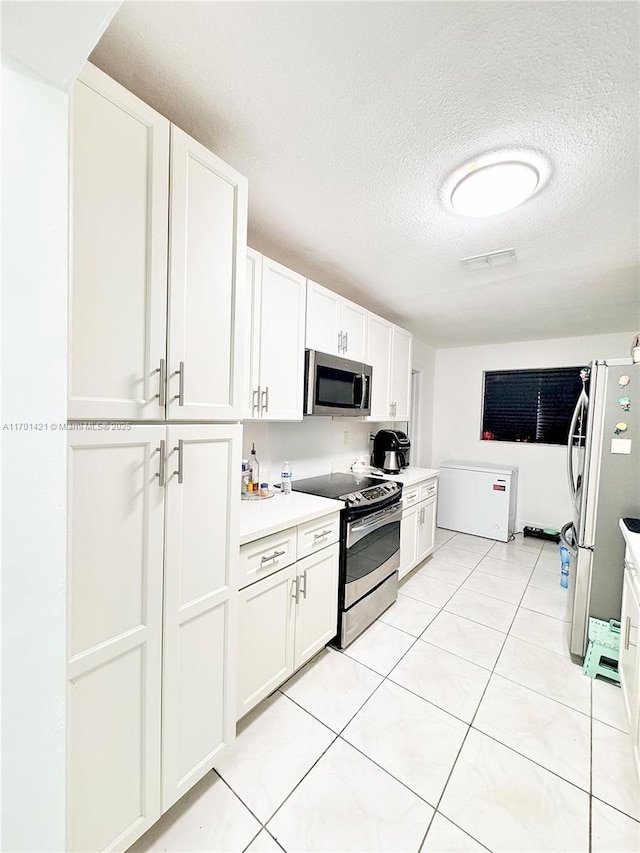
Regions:
M 244 417 L 302 420 L 306 279 L 249 250 Z

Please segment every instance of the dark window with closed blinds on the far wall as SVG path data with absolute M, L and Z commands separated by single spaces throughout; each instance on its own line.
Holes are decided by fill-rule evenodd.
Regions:
M 581 369 L 485 371 L 482 440 L 566 444 Z

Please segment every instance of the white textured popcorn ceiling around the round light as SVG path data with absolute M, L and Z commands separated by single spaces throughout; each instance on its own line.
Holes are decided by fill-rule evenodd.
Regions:
M 249 242 L 434 346 L 640 326 L 636 2 L 125 2 L 91 60 L 249 179 Z M 456 216 L 449 173 L 547 186 Z M 518 263 L 461 258 L 514 247 Z

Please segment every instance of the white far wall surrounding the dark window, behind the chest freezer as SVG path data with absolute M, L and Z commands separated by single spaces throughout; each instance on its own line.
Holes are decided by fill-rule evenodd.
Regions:
M 525 524 L 559 529 L 573 517 L 565 448 L 481 441 L 483 371 L 569 367 L 594 358 L 628 357 L 632 337 L 625 332 L 437 350 L 434 467 L 447 459 L 517 465 L 518 530 Z

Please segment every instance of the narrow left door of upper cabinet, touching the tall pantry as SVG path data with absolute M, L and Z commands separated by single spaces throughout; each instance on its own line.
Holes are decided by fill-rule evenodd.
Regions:
M 260 417 L 260 306 L 262 255 L 247 249 L 247 276 L 244 287 L 244 380 L 242 384 L 244 420 Z

